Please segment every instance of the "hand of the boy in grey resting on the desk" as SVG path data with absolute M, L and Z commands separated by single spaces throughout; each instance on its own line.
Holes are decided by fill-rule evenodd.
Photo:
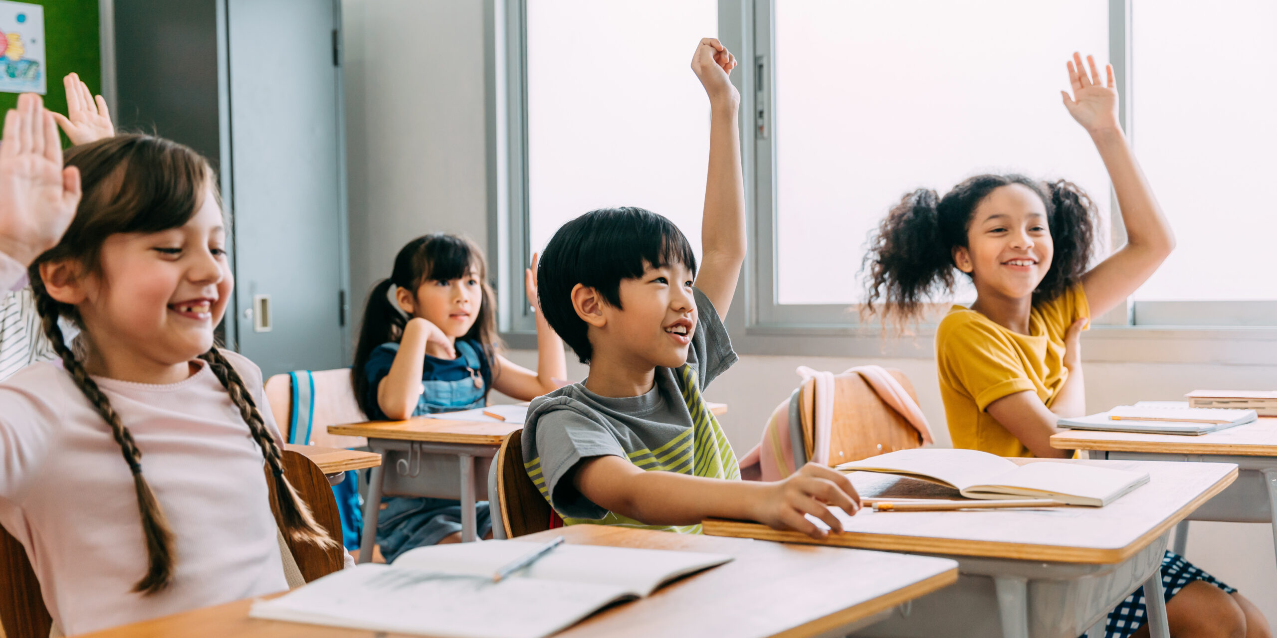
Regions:
M 861 508 L 861 496 L 847 475 L 819 463 L 807 463 L 788 478 L 769 485 L 767 498 L 759 503 L 755 519 L 773 530 L 797 530 L 812 538 L 824 538 L 829 532 L 808 521 L 806 514 L 842 532 L 843 523 L 829 510 L 829 505 L 854 514 Z

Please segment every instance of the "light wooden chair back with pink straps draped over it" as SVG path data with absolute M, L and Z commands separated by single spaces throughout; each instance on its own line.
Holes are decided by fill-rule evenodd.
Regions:
M 917 403 L 918 394 L 914 392 L 913 384 L 909 383 L 909 378 L 895 369 L 888 369 L 886 373 L 899 382 Z M 808 459 L 812 458 L 816 448 L 815 388 L 815 379 L 803 382 L 798 401 L 802 413 L 803 448 Z M 865 378 L 858 374 L 835 378 L 834 421 L 830 427 L 826 464 L 833 467 L 898 449 L 919 447 L 922 447 L 922 436 L 918 430 L 909 425 L 904 416 L 888 406 Z

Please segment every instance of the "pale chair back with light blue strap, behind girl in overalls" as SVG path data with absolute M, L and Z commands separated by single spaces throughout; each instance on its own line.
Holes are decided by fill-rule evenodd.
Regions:
M 329 425 L 368 420 L 355 401 L 349 367 L 277 374 L 266 380 L 266 399 L 289 443 L 328 448 L 368 445 L 363 436 L 328 434 Z

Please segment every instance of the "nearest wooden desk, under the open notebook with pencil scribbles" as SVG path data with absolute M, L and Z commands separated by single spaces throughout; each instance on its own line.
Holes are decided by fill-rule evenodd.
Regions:
M 958 564 L 840 547 L 812 547 L 741 538 L 711 538 L 621 527 L 573 526 L 525 536 L 544 542 L 730 554 L 736 560 L 676 581 L 651 596 L 617 605 L 555 634 L 647 635 L 845 635 L 894 614 L 899 605 L 958 579 Z M 521 538 L 521 540 L 524 540 Z M 92 638 L 374 638 L 360 632 L 248 618 L 244 600 L 120 627 Z M 88 638 L 88 637 L 86 637 Z

